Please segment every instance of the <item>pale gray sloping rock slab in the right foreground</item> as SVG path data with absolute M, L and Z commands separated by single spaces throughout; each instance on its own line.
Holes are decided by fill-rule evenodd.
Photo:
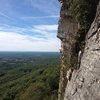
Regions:
M 100 100 L 100 3 L 86 36 L 80 68 L 73 71 L 64 100 Z

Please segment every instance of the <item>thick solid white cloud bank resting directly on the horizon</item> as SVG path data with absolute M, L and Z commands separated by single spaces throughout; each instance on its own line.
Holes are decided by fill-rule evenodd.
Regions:
M 15 32 L 0 32 L 0 51 L 59 51 L 56 38 L 37 38 Z

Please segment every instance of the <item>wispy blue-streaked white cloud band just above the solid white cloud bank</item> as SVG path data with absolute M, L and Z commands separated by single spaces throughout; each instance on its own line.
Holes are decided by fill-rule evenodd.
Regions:
M 6 31 L 6 32 L 14 32 L 14 33 L 20 33 L 24 35 L 35 35 L 35 37 L 56 37 L 57 33 L 57 27 L 58 25 L 34 25 L 32 27 L 16 27 L 16 26 L 9 26 L 9 25 L 1 25 L 0 31 Z

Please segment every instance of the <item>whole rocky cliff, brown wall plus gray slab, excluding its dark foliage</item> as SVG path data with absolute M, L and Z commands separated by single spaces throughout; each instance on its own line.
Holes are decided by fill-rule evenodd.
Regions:
M 86 34 L 84 50 L 77 48 L 78 22 L 61 1 L 58 38 L 61 39 L 61 71 L 58 100 L 100 100 L 100 2 Z

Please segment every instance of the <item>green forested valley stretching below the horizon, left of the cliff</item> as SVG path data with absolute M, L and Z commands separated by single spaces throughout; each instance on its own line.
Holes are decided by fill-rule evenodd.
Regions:
M 57 100 L 59 56 L 10 60 L 0 63 L 0 100 Z

